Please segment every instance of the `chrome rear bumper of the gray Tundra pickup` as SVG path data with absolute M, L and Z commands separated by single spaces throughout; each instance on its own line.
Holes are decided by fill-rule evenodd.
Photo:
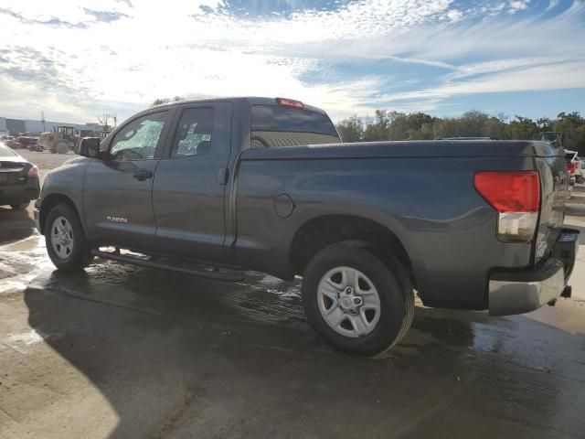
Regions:
M 496 272 L 489 281 L 490 316 L 534 311 L 556 299 L 569 281 L 579 249 L 579 231 L 562 231 L 552 255 L 522 272 Z

